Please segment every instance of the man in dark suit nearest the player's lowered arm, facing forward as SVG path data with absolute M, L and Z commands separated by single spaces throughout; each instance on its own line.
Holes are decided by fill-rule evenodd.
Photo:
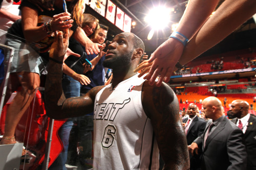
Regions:
M 186 117 L 182 120 L 182 123 L 185 128 L 187 144 L 190 145 L 197 137 L 201 136 L 204 133 L 206 122 L 204 119 L 197 116 L 197 105 L 190 103 L 187 108 L 187 114 L 189 117 Z M 189 155 L 190 158 L 190 169 L 197 169 L 201 165 L 201 156 L 202 152 L 199 152 L 198 155 Z

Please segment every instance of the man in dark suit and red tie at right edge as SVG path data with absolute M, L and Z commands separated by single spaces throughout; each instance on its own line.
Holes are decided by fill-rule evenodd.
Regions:
M 256 117 L 248 113 L 249 104 L 244 100 L 235 100 L 231 103 L 230 114 L 236 118 L 231 121 L 244 133 L 247 151 L 246 169 L 256 169 Z

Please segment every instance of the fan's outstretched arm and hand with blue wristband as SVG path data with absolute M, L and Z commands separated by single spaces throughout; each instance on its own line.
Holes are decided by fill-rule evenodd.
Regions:
M 176 31 L 190 39 L 208 19 L 218 1 L 219 0 L 189 1 Z M 146 77 L 147 80 L 150 80 L 151 85 L 154 84 L 159 74 L 161 75 L 157 86 L 160 86 L 163 80 L 165 82 L 169 81 L 175 64 L 182 55 L 183 48 L 184 45 L 174 38 L 169 38 L 157 48 L 151 55 L 150 62 L 154 62 Z

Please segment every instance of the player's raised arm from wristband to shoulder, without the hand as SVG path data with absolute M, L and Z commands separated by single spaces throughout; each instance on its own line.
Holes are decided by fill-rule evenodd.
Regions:
M 104 86 L 91 89 L 86 95 L 66 99 L 62 91 L 61 64 L 50 61 L 46 80 L 46 110 L 47 115 L 54 119 L 77 117 L 93 112 L 96 94 Z

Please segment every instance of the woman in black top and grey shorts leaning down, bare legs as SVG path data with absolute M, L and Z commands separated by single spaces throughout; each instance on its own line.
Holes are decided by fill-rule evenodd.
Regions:
M 41 69 L 47 64 L 48 51 L 53 42 L 52 33 L 70 28 L 70 35 L 77 39 L 82 37 L 80 41 L 86 50 L 97 53 L 99 51 L 98 44 L 92 43 L 85 33 L 79 29 L 81 24 L 81 4 L 85 4 L 83 0 L 67 1 L 67 5 L 72 7 L 72 17 L 70 13 L 63 10 L 63 0 L 55 0 L 53 11 L 40 11 L 35 5 L 23 0 L 20 9 L 22 10 L 22 20 L 18 20 L 9 29 L 8 33 L 14 35 L 7 38 L 7 45 L 15 48 L 13 63 L 10 70 L 11 83 L 8 85 L 5 103 L 8 101 L 10 94 L 22 85 L 22 90 L 18 91 L 13 102 L 7 110 L 5 122 L 5 134 L 0 144 L 15 143 L 15 128 L 29 107 L 34 93 L 39 87 Z M 75 20 L 75 22 L 73 22 Z M 83 33 L 82 33 L 83 32 Z M 15 37 L 15 39 L 14 39 Z M 16 38 L 18 37 L 18 38 Z M 36 55 L 34 48 L 24 43 L 36 42 L 34 46 L 40 48 L 40 57 Z M 39 45 L 37 45 L 39 44 Z M 7 55 L 8 56 L 8 55 Z M 8 58 L 5 58 L 8 60 Z M 66 67 L 66 66 L 64 66 Z

